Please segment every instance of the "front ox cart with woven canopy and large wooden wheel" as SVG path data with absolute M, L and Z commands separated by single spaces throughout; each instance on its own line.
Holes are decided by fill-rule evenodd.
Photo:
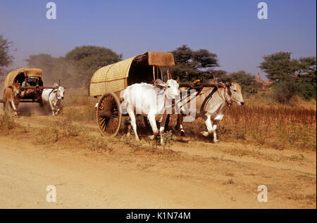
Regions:
M 154 83 L 155 79 L 163 77 L 172 78 L 169 72 L 170 66 L 175 65 L 172 53 L 147 52 L 139 56 L 134 56 L 118 63 L 99 68 L 90 81 L 90 96 L 98 99 L 97 103 L 97 123 L 99 129 L 106 136 L 116 136 L 122 123 L 122 108 L 120 102 L 120 91 L 123 91 L 131 84 Z M 163 75 L 164 70 L 166 74 Z M 189 84 L 180 84 L 180 87 L 197 89 L 203 87 L 221 87 L 217 82 L 200 84 L 199 80 Z M 188 91 L 189 94 L 189 91 Z M 128 114 L 126 114 L 128 115 Z M 166 124 L 168 125 L 168 119 Z M 147 122 L 147 117 L 144 117 Z

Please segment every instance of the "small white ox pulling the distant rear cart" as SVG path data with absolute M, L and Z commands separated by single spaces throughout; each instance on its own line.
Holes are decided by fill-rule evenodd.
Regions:
M 58 84 L 54 84 L 57 89 L 44 89 L 42 92 L 43 105 L 49 105 L 53 116 L 57 115 L 61 110 L 61 99 L 64 98 L 65 89 Z

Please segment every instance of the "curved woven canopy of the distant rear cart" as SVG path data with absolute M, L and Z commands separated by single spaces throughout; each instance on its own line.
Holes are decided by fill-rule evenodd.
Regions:
M 41 79 L 43 80 L 42 72 L 43 70 L 39 68 L 19 68 L 13 70 L 9 72 L 6 76 L 6 79 L 4 80 L 4 87 L 8 87 L 16 82 L 18 75 L 24 75 L 24 77 L 41 77 Z

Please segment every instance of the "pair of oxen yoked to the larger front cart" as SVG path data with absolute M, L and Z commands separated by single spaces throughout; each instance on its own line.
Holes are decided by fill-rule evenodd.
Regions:
M 132 84 L 122 92 L 124 98 L 123 107 L 128 110 L 130 122 L 135 132 L 135 139 L 139 141 L 137 136 L 137 124 L 135 115 L 147 116 L 153 130 L 150 139 L 153 140 L 160 133 L 161 145 L 164 144 L 162 134 L 166 123 L 167 113 L 172 105 L 172 98 L 179 98 L 176 104 L 180 103 L 179 84 L 174 79 L 168 79 L 166 83 L 162 81 L 151 84 Z M 213 133 L 213 141 L 218 142 L 216 128 L 218 122 L 223 119 L 225 108 L 235 101 L 239 106 L 244 104 L 241 87 L 238 83 L 233 82 L 226 87 L 215 89 L 213 87 L 204 87 L 199 93 L 189 95 L 189 101 L 196 99 L 194 118 L 202 117 L 206 123 L 207 132 L 201 132 L 204 136 Z M 183 111 L 183 108 L 181 109 Z M 156 120 L 160 122 L 160 129 L 157 129 Z M 184 134 L 182 129 L 183 114 L 178 114 L 178 129 Z M 130 134 L 130 128 L 128 131 Z

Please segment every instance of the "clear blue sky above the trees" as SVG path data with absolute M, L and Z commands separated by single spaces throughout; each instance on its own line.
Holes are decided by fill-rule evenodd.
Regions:
M 53 0 L 56 20 L 46 19 L 48 2 L 0 0 L 0 34 L 16 49 L 14 68 L 25 66 L 31 54 L 64 56 L 82 45 L 105 46 L 129 58 L 187 44 L 216 53 L 220 69 L 254 75 L 263 55 L 316 56 L 315 0 L 265 1 L 268 20 L 257 18 L 260 1 L 254 0 Z

